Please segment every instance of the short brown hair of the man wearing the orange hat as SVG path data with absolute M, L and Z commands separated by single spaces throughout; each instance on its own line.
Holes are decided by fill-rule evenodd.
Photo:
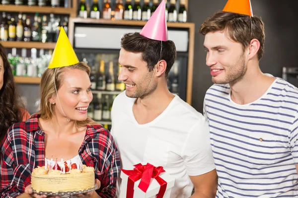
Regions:
M 242 44 L 243 50 L 249 46 L 252 39 L 257 39 L 260 42 L 258 59 L 262 58 L 265 29 L 260 17 L 219 11 L 208 17 L 200 27 L 202 35 L 216 31 L 226 31 L 229 39 Z

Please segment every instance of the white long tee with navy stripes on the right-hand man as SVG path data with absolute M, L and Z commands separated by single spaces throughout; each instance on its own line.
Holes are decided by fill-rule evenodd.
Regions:
M 230 99 L 229 85 L 206 93 L 217 198 L 298 197 L 298 89 L 276 78 L 249 104 Z

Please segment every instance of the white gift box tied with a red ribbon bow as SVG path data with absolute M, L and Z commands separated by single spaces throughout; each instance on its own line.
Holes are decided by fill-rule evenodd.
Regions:
M 120 177 L 119 198 L 170 198 L 175 183 L 162 166 L 149 163 L 136 164 L 131 170 L 121 169 Z

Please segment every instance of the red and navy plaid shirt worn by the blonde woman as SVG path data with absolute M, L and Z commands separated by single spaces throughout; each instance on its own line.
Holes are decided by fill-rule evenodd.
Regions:
M 45 165 L 45 132 L 39 128 L 38 117 L 34 114 L 8 129 L 1 147 L 1 197 L 15 198 L 24 193 L 32 170 Z M 95 168 L 95 178 L 101 182 L 97 194 L 114 198 L 120 158 L 110 132 L 101 125 L 88 125 L 78 154 L 83 164 Z

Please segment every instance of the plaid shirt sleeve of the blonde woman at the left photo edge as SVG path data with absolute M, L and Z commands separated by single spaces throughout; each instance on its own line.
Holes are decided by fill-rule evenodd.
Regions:
M 1 198 L 15 198 L 30 184 L 31 165 L 26 157 L 26 142 L 24 123 L 16 123 L 8 129 L 1 146 Z

